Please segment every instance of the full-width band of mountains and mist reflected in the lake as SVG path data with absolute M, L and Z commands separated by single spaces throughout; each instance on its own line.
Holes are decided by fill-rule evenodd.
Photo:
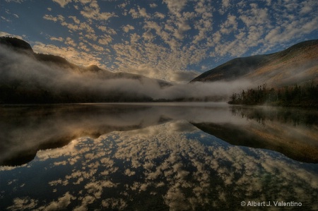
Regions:
M 295 117 L 296 116 L 296 117 Z M 170 120 L 186 120 L 232 145 L 318 162 L 317 111 L 213 103 L 61 104 L 0 107 L 0 165 L 26 164 L 38 150 Z

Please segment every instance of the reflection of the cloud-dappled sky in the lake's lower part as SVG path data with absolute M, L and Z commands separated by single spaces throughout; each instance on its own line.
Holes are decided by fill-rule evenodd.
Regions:
M 171 120 L 77 138 L 0 167 L 0 210 L 240 210 L 243 200 L 317 210 L 317 167 Z

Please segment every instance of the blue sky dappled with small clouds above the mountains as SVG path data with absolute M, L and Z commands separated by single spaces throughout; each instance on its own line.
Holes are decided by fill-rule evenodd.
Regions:
M 0 36 L 80 66 L 174 83 L 318 39 L 317 0 L 2 0 Z

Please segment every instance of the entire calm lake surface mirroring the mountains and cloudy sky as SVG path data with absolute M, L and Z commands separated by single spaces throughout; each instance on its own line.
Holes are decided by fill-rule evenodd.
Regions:
M 0 210 L 318 210 L 317 111 L 2 106 L 0 138 Z

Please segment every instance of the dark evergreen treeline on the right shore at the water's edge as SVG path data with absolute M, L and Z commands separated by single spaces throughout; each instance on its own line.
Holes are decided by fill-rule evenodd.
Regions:
M 284 88 L 267 88 L 266 84 L 257 89 L 242 90 L 233 93 L 229 104 L 259 105 L 269 104 L 283 107 L 314 107 L 318 108 L 318 84 L 285 86 Z

